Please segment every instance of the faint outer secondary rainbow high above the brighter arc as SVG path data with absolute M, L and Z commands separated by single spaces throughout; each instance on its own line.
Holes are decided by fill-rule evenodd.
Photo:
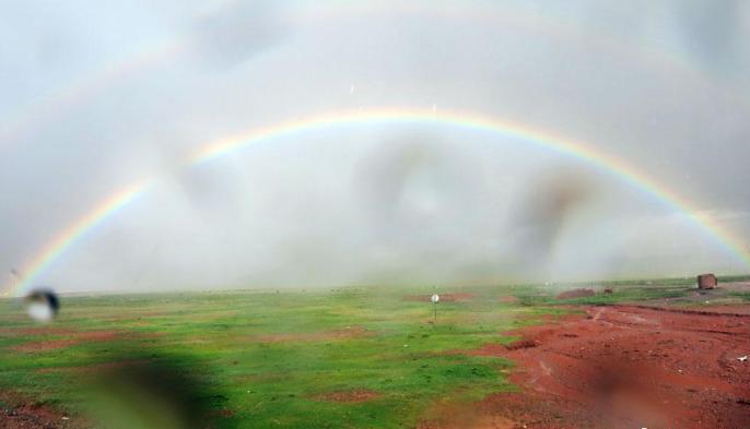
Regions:
M 628 56 L 633 63 L 646 63 L 649 69 L 663 70 L 670 76 L 680 75 L 691 80 L 691 85 L 705 85 L 708 90 L 717 91 L 723 97 L 737 104 L 743 110 L 748 109 L 747 98 L 737 91 L 716 85 L 712 80 L 704 79 L 703 74 L 690 65 L 688 59 L 680 52 L 669 49 L 633 48 L 624 40 L 610 34 L 596 34 L 596 37 L 587 32 L 590 28 L 576 26 L 563 17 L 551 19 L 539 13 L 532 7 L 523 2 L 513 7 L 497 8 L 492 3 L 474 1 L 470 5 L 461 2 L 441 3 L 435 7 L 430 1 L 413 1 L 399 4 L 398 9 L 392 5 L 368 4 L 367 2 L 332 2 L 333 7 L 321 8 L 320 2 L 301 2 L 302 16 L 308 15 L 324 23 L 341 20 L 345 16 L 371 16 L 375 11 L 379 13 L 409 13 L 417 17 L 430 19 L 442 16 L 456 20 L 469 20 L 485 22 L 488 24 L 502 24 L 527 28 L 539 34 L 549 33 L 551 39 L 576 44 L 582 39 L 587 46 L 601 52 L 618 52 Z M 220 3 L 213 4 L 213 9 Z M 210 12 L 211 9 L 206 12 Z M 171 40 L 153 40 L 112 61 L 107 61 L 99 68 L 83 73 L 69 85 L 42 96 L 24 108 L 17 109 L 16 114 L 3 118 L 0 123 L 0 148 L 5 144 L 20 141 L 30 130 L 34 130 L 40 120 L 58 117 L 60 111 L 69 110 L 83 100 L 93 98 L 112 83 L 127 81 L 150 68 L 156 68 L 174 61 L 179 55 L 189 51 L 189 39 L 185 36 Z

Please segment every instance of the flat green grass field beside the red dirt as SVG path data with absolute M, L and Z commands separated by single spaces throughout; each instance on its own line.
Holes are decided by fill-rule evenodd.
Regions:
M 694 282 L 694 281 L 693 281 Z M 38 327 L 15 301 L 0 301 L 0 391 L 84 414 L 91 389 L 82 371 L 60 370 L 122 360 L 165 365 L 197 380 L 210 408 L 231 410 L 218 428 L 402 428 L 425 418 L 436 401 L 477 401 L 517 389 L 503 376 L 513 364 L 468 356 L 503 332 L 564 313 L 559 303 L 613 303 L 685 294 L 685 283 L 620 284 L 612 295 L 560 301 L 563 287 L 474 287 L 474 298 L 408 301 L 394 288 L 326 291 L 223 291 L 63 298 L 54 330 L 117 331 L 109 341 L 46 351 L 20 351 L 28 342 L 70 337 Z M 514 295 L 518 302 L 499 297 Z M 363 330 L 347 336 L 342 332 Z M 23 332 L 23 334 L 20 334 Z M 337 335 L 326 336 L 336 332 Z M 285 341 L 270 342 L 269 335 Z M 296 336 L 295 336 L 296 335 Z M 330 392 L 370 390 L 363 403 L 321 401 Z

